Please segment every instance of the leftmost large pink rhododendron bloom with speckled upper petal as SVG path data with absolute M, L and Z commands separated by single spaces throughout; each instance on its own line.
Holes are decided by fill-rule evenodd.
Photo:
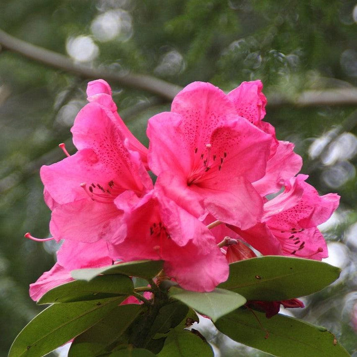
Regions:
M 115 201 L 126 190 L 142 196 L 152 188 L 151 179 L 138 153 L 127 149 L 118 120 L 105 107 L 87 104 L 71 131 L 79 151 L 41 168 L 45 199 L 53 209 L 51 233 L 56 240 L 83 242 L 121 236 L 122 212 Z

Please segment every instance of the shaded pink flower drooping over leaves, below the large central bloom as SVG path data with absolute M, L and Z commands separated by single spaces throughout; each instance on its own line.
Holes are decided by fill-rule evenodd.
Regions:
M 124 261 L 162 259 L 165 274 L 187 290 L 212 291 L 228 278 L 228 263 L 206 226 L 156 190 L 124 207 L 127 236 L 111 244 Z

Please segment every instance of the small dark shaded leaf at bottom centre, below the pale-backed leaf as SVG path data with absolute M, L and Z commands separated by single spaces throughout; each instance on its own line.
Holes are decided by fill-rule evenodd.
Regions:
M 188 307 L 179 302 L 173 301 L 161 307 L 154 323 L 151 326 L 150 334 L 165 333 L 176 327 L 186 317 Z

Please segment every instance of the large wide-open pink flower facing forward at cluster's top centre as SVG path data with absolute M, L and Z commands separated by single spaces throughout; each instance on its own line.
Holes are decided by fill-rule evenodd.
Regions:
M 263 201 L 251 182 L 265 175 L 272 135 L 239 117 L 219 88 L 186 86 L 171 112 L 149 120 L 147 135 L 156 184 L 182 208 L 241 228 L 260 219 Z

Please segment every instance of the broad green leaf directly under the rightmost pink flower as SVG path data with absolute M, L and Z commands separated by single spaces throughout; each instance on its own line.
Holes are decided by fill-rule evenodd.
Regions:
M 264 256 L 230 264 L 230 275 L 219 285 L 247 300 L 287 300 L 330 285 L 341 270 L 316 260 Z

